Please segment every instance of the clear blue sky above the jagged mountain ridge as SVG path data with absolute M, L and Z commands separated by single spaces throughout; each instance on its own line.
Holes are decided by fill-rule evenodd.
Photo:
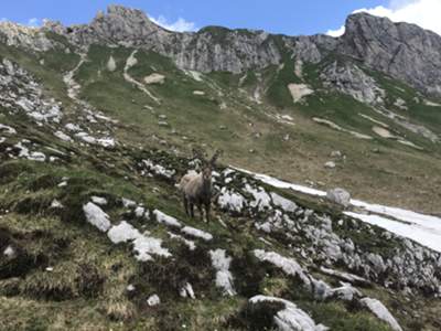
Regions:
M 89 22 L 98 10 L 118 3 L 142 9 L 163 24 L 179 19 L 184 26 L 224 25 L 284 34 L 313 34 L 337 29 L 361 8 L 387 6 L 388 0 L 3 0 L 0 18 L 28 23 L 42 19 L 65 24 Z M 185 23 L 189 25 L 185 25 Z

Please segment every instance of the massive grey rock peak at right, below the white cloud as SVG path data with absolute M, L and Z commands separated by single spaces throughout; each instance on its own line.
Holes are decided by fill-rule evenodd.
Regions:
M 441 95 L 441 36 L 434 32 L 356 13 L 346 20 L 337 52 L 424 93 Z

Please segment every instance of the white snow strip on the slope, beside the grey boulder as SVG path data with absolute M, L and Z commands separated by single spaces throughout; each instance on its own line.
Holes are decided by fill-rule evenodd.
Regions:
M 310 195 L 326 196 L 326 192 L 289 183 L 267 174 L 255 173 L 244 169 L 230 167 L 237 171 L 252 175 L 254 178 L 279 189 L 290 189 Z M 398 236 L 412 239 L 426 247 L 441 253 L 441 218 L 424 215 L 412 211 L 390 207 L 379 204 L 370 204 L 359 200 L 351 200 L 351 206 L 364 210 L 358 212 L 345 212 L 346 215 L 365 223 L 383 227 Z

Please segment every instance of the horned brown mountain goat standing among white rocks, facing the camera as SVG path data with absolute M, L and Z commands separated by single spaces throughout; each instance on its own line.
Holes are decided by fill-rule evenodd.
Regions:
M 194 217 L 194 205 L 196 205 L 201 214 L 201 221 L 203 221 L 204 206 L 206 222 L 209 222 L 209 210 L 212 205 L 212 171 L 219 154 L 220 151 L 216 151 L 209 161 L 206 161 L 200 156 L 203 162 L 202 171 L 200 173 L 190 171 L 181 179 L 178 185 L 182 192 L 185 213 L 187 215 L 190 214 L 191 217 Z

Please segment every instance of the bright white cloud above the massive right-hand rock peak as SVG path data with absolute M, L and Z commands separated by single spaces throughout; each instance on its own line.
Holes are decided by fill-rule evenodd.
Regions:
M 413 23 L 441 35 L 440 0 L 391 0 L 387 7 L 363 8 L 353 13 L 357 12 L 389 18 L 394 22 Z M 337 30 L 329 30 L 326 34 L 340 36 L 344 31 L 345 29 L 342 26 Z

